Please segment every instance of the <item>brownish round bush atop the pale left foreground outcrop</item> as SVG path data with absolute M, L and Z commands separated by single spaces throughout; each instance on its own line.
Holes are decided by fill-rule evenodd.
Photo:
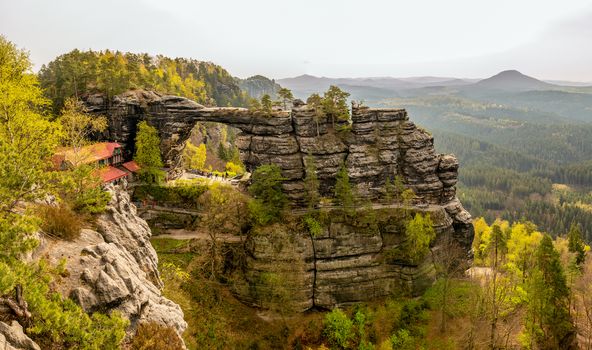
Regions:
M 82 221 L 67 206 L 43 205 L 39 208 L 41 230 L 51 237 L 72 241 L 80 237 Z

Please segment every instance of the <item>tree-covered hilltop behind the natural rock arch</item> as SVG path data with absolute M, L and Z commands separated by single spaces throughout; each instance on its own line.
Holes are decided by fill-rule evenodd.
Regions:
M 68 97 L 95 92 L 112 97 L 130 89 L 180 95 L 205 105 L 244 106 L 247 100 L 235 79 L 213 63 L 109 50 L 63 54 L 41 68 L 39 80 L 56 111 Z

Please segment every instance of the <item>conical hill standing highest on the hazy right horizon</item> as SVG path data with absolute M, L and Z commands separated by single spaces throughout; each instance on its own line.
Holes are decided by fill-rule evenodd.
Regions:
M 553 90 L 559 88 L 558 85 L 549 84 L 544 81 L 524 75 L 517 70 L 506 70 L 490 78 L 483 79 L 469 86 L 470 88 L 479 88 L 485 90 L 501 91 L 530 91 L 530 90 Z

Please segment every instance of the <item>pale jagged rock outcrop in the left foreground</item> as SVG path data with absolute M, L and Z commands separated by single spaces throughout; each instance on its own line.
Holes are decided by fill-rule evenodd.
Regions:
M 180 335 L 187 323 L 179 305 L 162 296 L 150 229 L 125 191 L 108 190 L 112 199 L 96 231 L 83 229 L 71 242 L 44 240 L 35 257 L 53 263 L 66 258 L 68 275 L 57 288 L 85 311 L 121 312 L 131 321 L 129 334 L 139 323 L 157 322 Z

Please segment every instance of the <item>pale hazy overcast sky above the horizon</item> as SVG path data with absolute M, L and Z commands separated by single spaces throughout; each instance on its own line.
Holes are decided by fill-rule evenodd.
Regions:
M 592 81 L 592 0 L 0 0 L 0 34 L 35 67 L 71 49 L 213 61 L 282 78 Z

